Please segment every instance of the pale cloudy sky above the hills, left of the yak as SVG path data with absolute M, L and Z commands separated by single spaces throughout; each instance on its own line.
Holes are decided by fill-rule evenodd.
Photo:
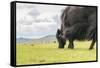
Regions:
M 66 6 L 17 3 L 16 38 L 41 38 L 55 35 Z

